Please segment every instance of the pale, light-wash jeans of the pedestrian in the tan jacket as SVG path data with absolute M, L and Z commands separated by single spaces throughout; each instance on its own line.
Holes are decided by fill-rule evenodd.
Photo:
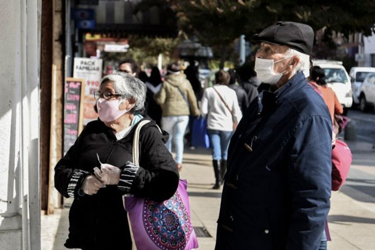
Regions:
M 184 135 L 189 122 L 188 115 L 164 116 L 161 120 L 162 129 L 169 133 L 165 147 L 172 152 L 172 141 L 176 151 L 176 163 L 182 163 L 184 153 Z

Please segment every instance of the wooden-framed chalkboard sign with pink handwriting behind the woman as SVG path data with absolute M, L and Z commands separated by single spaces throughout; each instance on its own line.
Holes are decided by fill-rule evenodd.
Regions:
M 64 88 L 64 155 L 83 129 L 85 80 L 67 77 Z

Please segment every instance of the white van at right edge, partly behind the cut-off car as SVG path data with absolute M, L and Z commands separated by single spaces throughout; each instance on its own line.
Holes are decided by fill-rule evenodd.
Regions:
M 362 82 L 365 80 L 369 73 L 375 73 L 375 67 L 352 67 L 350 69 L 350 80 L 353 91 L 353 103 L 354 105 L 360 104 L 360 91 Z

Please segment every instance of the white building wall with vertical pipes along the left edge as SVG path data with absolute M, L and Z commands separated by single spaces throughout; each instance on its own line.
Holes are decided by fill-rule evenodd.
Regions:
M 0 249 L 40 249 L 39 9 L 0 1 Z

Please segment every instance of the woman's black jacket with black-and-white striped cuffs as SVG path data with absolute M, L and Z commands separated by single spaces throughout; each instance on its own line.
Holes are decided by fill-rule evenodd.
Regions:
M 80 187 L 84 178 L 93 174 L 93 168 L 100 166 L 96 154 L 102 163 L 119 168 L 123 168 L 127 161 L 132 162 L 135 127 L 129 135 L 117 140 L 102 121 L 92 121 L 55 166 L 56 189 L 65 197 L 74 197 L 69 212 L 66 247 L 131 249 L 122 199 L 127 192 L 117 185 L 107 185 L 95 195 L 81 195 Z M 154 121 L 142 127 L 139 135 L 140 167 L 130 186 L 131 194 L 164 201 L 177 190 L 179 175 L 172 155 L 164 145 L 167 139 L 168 134 L 160 133 Z

